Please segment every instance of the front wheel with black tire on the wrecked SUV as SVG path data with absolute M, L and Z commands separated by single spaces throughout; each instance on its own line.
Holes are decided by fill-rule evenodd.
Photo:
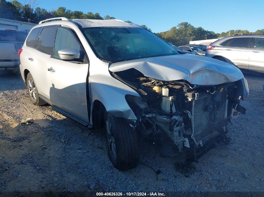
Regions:
M 128 120 L 117 118 L 107 112 L 105 113 L 105 125 L 108 157 L 114 167 L 118 170 L 128 170 L 137 167 L 139 145 L 136 130 L 130 126 Z M 110 130 L 110 133 L 108 130 Z M 113 152 L 113 144 L 115 145 L 116 154 Z

